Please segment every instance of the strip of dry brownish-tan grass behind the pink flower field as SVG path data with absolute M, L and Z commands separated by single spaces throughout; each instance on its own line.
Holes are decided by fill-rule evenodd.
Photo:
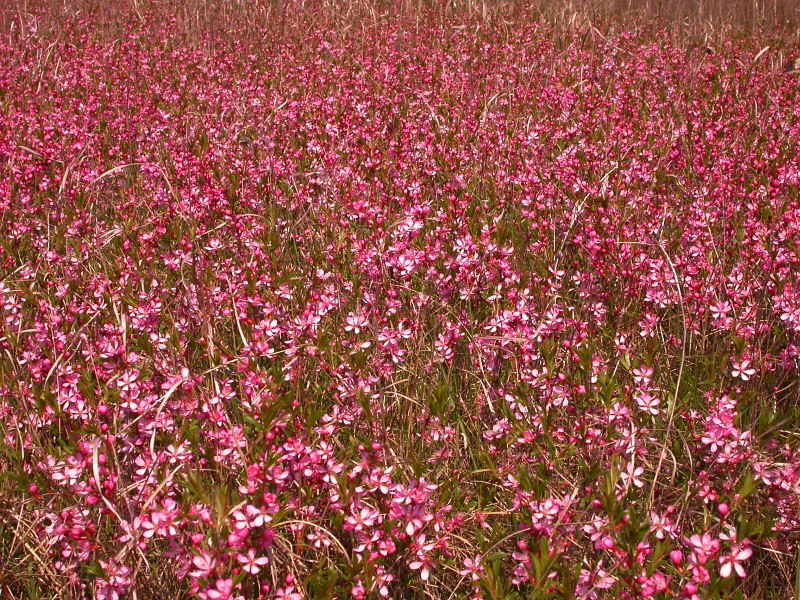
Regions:
M 162 4 L 163 0 L 10 2 L 0 9 L 0 31 L 13 35 L 32 25 L 40 30 L 60 28 L 65 21 L 91 13 L 104 25 L 104 33 L 115 37 Z M 304 19 L 287 18 L 298 13 L 304 13 L 307 21 L 335 21 L 344 30 L 386 19 L 408 22 L 409 15 L 426 20 L 437 16 L 443 25 L 455 17 L 463 22 L 465 16 L 475 26 L 529 20 L 566 31 L 658 25 L 665 35 L 698 46 L 731 32 L 768 31 L 788 42 L 798 38 L 800 29 L 796 0 L 185 0 L 175 17 L 189 39 L 204 39 L 205 31 L 222 24 L 234 34 L 232 40 L 243 41 L 261 37 L 266 30 L 281 37 L 288 28 L 300 26 Z

